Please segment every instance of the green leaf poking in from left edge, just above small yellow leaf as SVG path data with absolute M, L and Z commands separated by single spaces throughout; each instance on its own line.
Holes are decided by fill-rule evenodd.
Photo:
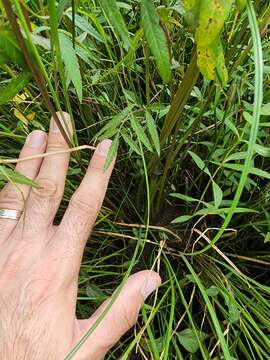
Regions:
M 11 101 L 30 81 L 32 75 L 29 72 L 22 72 L 13 78 L 5 86 L 0 86 L 0 105 Z

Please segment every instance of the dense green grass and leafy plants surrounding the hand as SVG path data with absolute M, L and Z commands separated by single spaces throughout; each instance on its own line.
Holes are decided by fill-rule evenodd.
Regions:
M 130 272 L 163 279 L 107 359 L 269 359 L 269 1 L 0 9 L 0 185 L 27 181 L 3 159 L 54 109 L 72 114 L 70 146 L 112 138 L 107 164 L 118 150 L 78 316 Z M 73 153 L 57 221 L 88 158 Z

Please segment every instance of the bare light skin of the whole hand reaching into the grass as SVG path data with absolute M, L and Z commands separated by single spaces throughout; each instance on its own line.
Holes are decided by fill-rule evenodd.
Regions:
M 65 118 L 70 124 L 68 114 Z M 102 312 L 104 304 L 89 319 L 75 315 L 83 250 L 114 166 L 103 171 L 109 146 L 109 140 L 98 145 L 58 226 L 53 221 L 68 153 L 17 164 L 17 171 L 40 185 L 21 186 L 25 201 L 12 184 L 0 192 L 0 208 L 23 210 L 20 220 L 0 219 L 0 359 L 64 359 Z M 34 131 L 28 136 L 20 157 L 65 149 L 52 120 L 48 135 Z M 153 271 L 132 275 L 74 359 L 102 359 L 136 323 L 140 307 L 159 284 Z

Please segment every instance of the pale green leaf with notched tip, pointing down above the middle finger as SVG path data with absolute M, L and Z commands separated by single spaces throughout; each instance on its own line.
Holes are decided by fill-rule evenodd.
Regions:
M 82 77 L 79 62 L 72 41 L 63 33 L 59 33 L 61 57 L 65 64 L 67 86 L 72 82 L 80 102 L 82 101 Z

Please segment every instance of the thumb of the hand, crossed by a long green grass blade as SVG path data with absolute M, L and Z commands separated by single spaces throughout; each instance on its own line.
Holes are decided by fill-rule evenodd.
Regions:
M 145 299 L 158 288 L 160 283 L 160 276 L 150 270 L 130 276 L 102 322 L 80 349 L 78 358 L 89 360 L 103 358 L 121 336 L 135 325 Z M 79 338 L 91 328 L 109 302 L 110 299 L 106 300 L 90 319 L 78 320 Z

